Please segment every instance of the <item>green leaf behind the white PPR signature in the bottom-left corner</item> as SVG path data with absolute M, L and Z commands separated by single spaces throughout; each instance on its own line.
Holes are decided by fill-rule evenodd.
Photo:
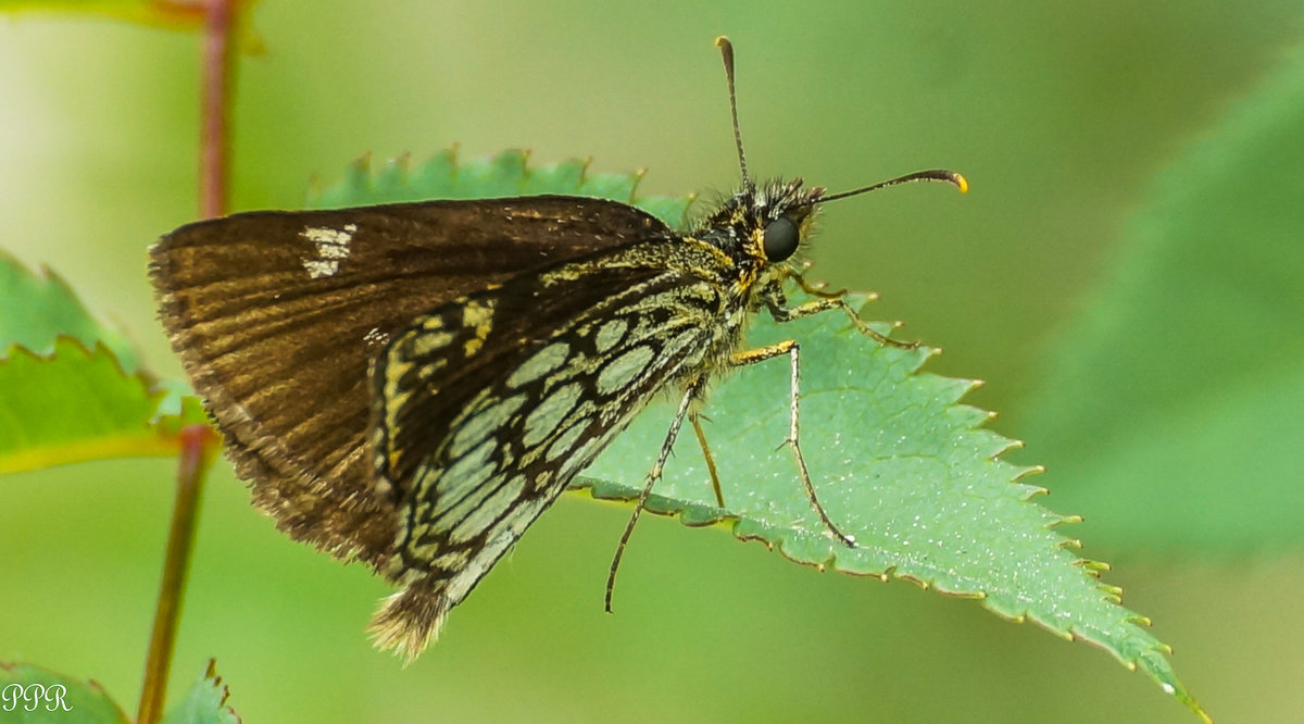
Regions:
M 0 661 L 3 724 L 128 724 L 123 710 L 94 681 L 33 664 Z

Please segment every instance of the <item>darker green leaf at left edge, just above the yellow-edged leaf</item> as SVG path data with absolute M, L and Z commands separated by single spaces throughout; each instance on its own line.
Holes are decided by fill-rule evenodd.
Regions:
M 68 283 L 48 269 L 33 274 L 0 249 L 0 359 L 20 346 L 48 355 L 67 335 L 86 347 L 104 344 L 128 372 L 138 369 L 136 350 L 116 327 L 95 320 Z

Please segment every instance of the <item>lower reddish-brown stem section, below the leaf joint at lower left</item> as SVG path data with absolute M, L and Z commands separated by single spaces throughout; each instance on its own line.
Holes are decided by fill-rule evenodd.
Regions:
M 188 425 L 181 429 L 179 440 L 181 455 L 176 475 L 176 500 L 172 504 L 172 528 L 168 531 L 163 579 L 159 582 L 158 607 L 154 611 L 154 630 L 150 633 L 150 654 L 145 661 L 145 685 L 141 689 L 137 724 L 154 724 L 163 715 L 163 695 L 167 693 L 176 627 L 181 620 L 185 573 L 194 544 L 203 474 L 209 470 L 216 445 L 207 425 Z

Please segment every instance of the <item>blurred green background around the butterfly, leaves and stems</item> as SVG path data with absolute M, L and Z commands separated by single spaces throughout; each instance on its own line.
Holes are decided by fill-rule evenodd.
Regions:
M 1058 335 L 1106 284 L 1151 179 L 1297 55 L 1304 5 L 263 0 L 254 20 L 269 51 L 240 61 L 237 210 L 301 205 L 309 177 L 333 183 L 366 151 L 420 159 L 454 142 L 649 167 L 647 193 L 728 192 L 721 33 L 756 176 L 840 190 L 962 171 L 968 197 L 911 187 L 829 206 L 816 277 L 879 291 L 878 316 L 947 350 L 930 370 L 987 380 L 969 402 L 1028 441 L 1021 462 L 1051 467 L 1043 502 L 1088 517 L 1065 535 L 1115 564 L 1106 581 L 1155 621 L 1215 717 L 1300 716 L 1300 526 L 1277 536 L 1286 545 L 1254 545 L 1248 526 L 1234 548 L 1111 527 L 1103 511 L 1127 509 L 1128 488 L 1102 501 L 1073 477 L 1071 446 L 1039 454 L 1033 423 L 1055 403 L 1038 382 Z M 72 16 L 0 25 L 0 247 L 57 269 L 168 376 L 145 248 L 196 214 L 197 59 L 184 34 Z M 1261 483 L 1247 453 L 1228 487 Z M 0 659 L 134 703 L 172 474 L 125 460 L 0 480 Z M 249 723 L 1194 721 L 1107 655 L 971 601 L 820 575 L 669 520 L 639 530 L 606 616 L 626 515 L 563 497 L 402 668 L 363 634 L 385 586 L 282 537 L 219 464 L 173 690 L 215 656 Z

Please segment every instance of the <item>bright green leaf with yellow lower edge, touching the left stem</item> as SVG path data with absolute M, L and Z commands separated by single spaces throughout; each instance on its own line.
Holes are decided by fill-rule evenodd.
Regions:
M 51 355 L 14 347 L 0 360 L 0 474 L 103 458 L 175 455 L 197 403 L 162 415 L 166 393 L 125 374 L 103 346 L 59 338 Z

